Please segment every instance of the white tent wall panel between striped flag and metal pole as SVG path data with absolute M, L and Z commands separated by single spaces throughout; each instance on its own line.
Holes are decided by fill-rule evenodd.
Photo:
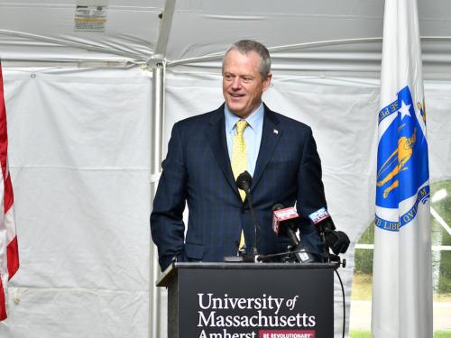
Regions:
M 147 337 L 151 79 L 5 69 L 21 269 L 2 337 Z

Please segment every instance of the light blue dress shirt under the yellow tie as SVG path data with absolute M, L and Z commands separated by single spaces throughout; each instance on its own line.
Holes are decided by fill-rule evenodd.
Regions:
M 226 139 L 229 159 L 232 159 L 232 151 L 234 149 L 234 137 L 236 133 L 235 124 L 242 120 L 241 117 L 233 114 L 225 105 L 224 114 L 226 116 Z M 260 143 L 262 142 L 263 131 L 263 115 L 264 107 L 261 104 L 257 110 L 250 114 L 245 121 L 249 124 L 244 129 L 244 142 L 246 142 L 247 150 L 247 171 L 253 176 L 255 164 L 257 163 Z

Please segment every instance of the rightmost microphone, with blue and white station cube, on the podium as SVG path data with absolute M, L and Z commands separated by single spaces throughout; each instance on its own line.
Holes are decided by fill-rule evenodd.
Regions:
M 349 237 L 344 232 L 336 231 L 336 226 L 325 207 L 311 213 L 308 218 L 317 228 L 318 234 L 326 246 L 326 251 L 327 248 L 330 248 L 336 255 L 347 251 L 350 243 Z

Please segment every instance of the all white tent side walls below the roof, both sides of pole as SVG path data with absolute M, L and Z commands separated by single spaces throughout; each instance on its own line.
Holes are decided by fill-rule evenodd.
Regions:
M 166 81 L 163 144 L 173 123 L 222 102 L 218 72 Z M 22 260 L 6 337 L 147 336 L 151 89 L 141 69 L 5 69 Z M 426 84 L 432 180 L 451 172 L 450 90 Z M 276 74 L 264 96 L 312 126 L 330 212 L 353 245 L 373 218 L 378 93 L 374 79 Z M 353 250 L 345 258 L 349 305 Z M 336 336 L 340 301 L 336 285 Z

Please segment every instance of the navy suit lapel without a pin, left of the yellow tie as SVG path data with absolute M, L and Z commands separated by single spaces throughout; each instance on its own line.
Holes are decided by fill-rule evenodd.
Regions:
M 234 174 L 230 165 L 230 159 L 227 151 L 226 142 L 226 119 L 224 117 L 224 105 L 221 105 L 211 116 L 209 127 L 206 130 L 207 140 L 215 154 L 219 167 L 226 176 L 227 182 L 234 189 L 237 196 L 238 188 L 236 187 Z M 219 137 L 218 137 L 219 136 Z

